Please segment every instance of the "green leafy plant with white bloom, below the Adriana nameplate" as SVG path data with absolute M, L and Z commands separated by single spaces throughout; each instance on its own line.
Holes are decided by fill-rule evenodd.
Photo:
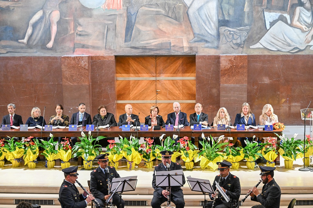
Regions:
M 52 133 L 50 133 L 49 136 L 51 137 L 49 141 L 44 141 L 43 139 L 40 139 L 40 143 L 38 139 L 35 139 L 35 143 L 37 146 L 44 149 L 44 152 L 41 154 L 46 158 L 45 167 L 54 168 L 55 160 L 59 159 L 59 154 L 56 147 L 58 141 L 53 141 L 54 136 L 52 135 Z

